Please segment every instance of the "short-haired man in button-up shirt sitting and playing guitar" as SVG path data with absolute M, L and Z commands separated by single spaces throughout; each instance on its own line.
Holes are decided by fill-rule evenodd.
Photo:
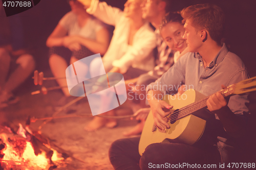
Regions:
M 212 168 L 219 168 L 220 163 L 236 161 L 236 139 L 246 133 L 247 118 L 244 113 L 248 112 L 245 106 L 247 95 L 232 95 L 228 100 L 217 91 L 247 79 L 246 68 L 237 55 L 227 50 L 224 43 L 221 45 L 224 30 L 224 13 L 221 8 L 199 4 L 183 9 L 181 15 L 185 21 L 183 38 L 186 39 L 189 53 L 147 87 L 147 101 L 152 110 L 152 115 L 148 117 L 152 116 L 159 131 L 170 132 L 170 123 L 166 123 L 166 117 L 174 106 L 156 96 L 174 94 L 176 91 L 173 87 L 184 84 L 209 96 L 206 102 L 208 111 L 205 109 L 204 112 L 210 112 L 217 123 L 211 124 L 211 130 L 205 129 L 207 137 L 202 136 L 202 140 L 195 144 L 173 139 L 153 142 L 145 148 L 142 156 L 138 152 L 139 140 L 142 140 L 140 137 L 119 139 L 112 143 L 109 152 L 115 169 L 163 169 L 183 163 L 194 164 L 194 167 L 195 164 L 201 164 L 201 167 L 203 164 L 215 164 Z M 207 122 L 207 125 L 210 123 Z M 223 132 L 217 133 L 217 129 Z

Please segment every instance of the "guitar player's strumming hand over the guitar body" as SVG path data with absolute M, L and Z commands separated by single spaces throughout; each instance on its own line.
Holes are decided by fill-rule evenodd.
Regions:
M 150 107 L 154 117 L 155 125 L 161 130 L 170 128 L 170 126 L 167 124 L 166 117 L 170 111 L 165 112 L 164 110 L 172 109 L 173 106 L 169 105 L 165 101 L 154 100 L 150 102 Z

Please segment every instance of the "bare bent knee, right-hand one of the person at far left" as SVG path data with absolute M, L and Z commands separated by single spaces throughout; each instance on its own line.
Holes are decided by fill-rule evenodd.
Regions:
M 31 56 L 30 54 L 24 54 L 20 56 L 16 60 L 16 63 L 25 69 L 29 69 L 29 70 L 35 69 L 35 60 L 33 56 Z

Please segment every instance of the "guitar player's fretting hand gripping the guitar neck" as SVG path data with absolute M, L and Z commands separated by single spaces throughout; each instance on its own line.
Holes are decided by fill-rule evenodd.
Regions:
M 221 85 L 221 87 L 223 89 L 226 88 L 224 85 Z M 220 92 L 217 92 L 215 94 L 212 94 L 209 97 L 206 104 L 207 104 L 208 110 L 212 112 L 212 111 L 219 110 L 219 109 L 223 108 L 224 106 L 226 106 L 227 101 L 225 100 L 224 96 Z

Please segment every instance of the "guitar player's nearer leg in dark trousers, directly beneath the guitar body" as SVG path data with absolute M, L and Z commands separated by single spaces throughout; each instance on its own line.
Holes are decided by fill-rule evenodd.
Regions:
M 153 143 L 147 146 L 140 159 L 140 168 L 151 169 L 153 164 L 216 164 L 218 169 L 221 156 L 217 147 L 199 149 L 183 143 Z M 183 168 L 190 169 L 189 166 Z M 192 167 L 193 168 L 193 167 Z

